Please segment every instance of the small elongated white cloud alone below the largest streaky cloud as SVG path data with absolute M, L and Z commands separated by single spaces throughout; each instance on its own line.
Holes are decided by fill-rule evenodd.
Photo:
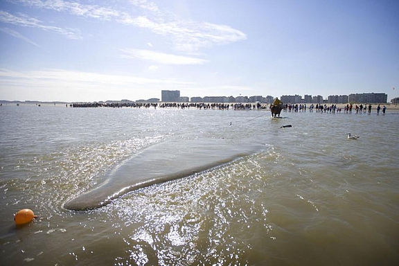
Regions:
M 123 49 L 122 51 L 125 53 L 123 57 L 150 60 L 159 64 L 204 64 L 209 62 L 200 58 L 159 53 L 150 50 Z

